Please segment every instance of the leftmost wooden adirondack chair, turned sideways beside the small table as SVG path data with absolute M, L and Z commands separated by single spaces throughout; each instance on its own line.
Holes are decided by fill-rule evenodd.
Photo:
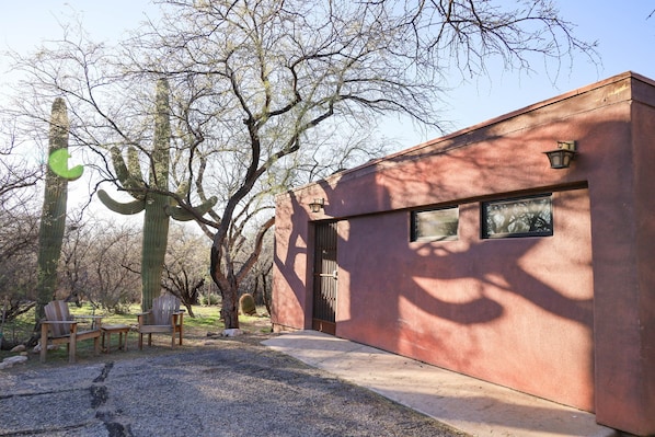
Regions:
M 93 338 L 95 355 L 100 354 L 101 315 L 70 315 L 68 303 L 64 300 L 54 300 L 45 306 L 46 319 L 41 322 L 41 363 L 46 361 L 48 341 L 51 344 L 66 344 L 68 361 L 76 361 L 77 344 L 82 340 Z M 91 319 L 91 329 L 78 331 L 78 321 L 74 319 Z

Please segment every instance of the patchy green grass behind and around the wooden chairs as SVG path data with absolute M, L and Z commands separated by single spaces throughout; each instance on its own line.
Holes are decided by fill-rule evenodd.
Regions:
M 70 313 L 72 315 L 90 315 L 93 313 L 91 306 L 83 304 L 81 308 L 78 308 L 74 303 L 69 304 Z M 139 313 L 140 306 L 134 304 L 129 307 L 129 313 L 126 314 L 106 314 L 103 315 L 102 312 L 95 312 L 95 315 L 103 315 L 102 324 L 126 324 L 126 325 L 137 325 L 137 313 Z M 203 307 L 203 306 L 194 306 L 193 307 L 194 318 L 189 317 L 188 314 L 184 315 L 184 344 L 182 348 L 188 349 L 194 347 L 200 347 L 207 343 L 208 333 L 218 334 L 222 332 L 225 325 L 220 320 L 220 306 L 210 306 L 210 307 Z M 258 314 L 267 314 L 266 309 L 264 307 L 257 308 Z M 84 325 L 83 319 L 80 320 L 79 330 L 84 330 L 87 326 Z M 250 317 L 250 315 L 239 315 L 239 324 L 240 329 L 245 331 L 246 333 L 257 334 L 257 333 L 268 333 L 271 332 L 271 322 L 269 318 L 260 315 L 260 317 Z M 32 330 L 34 329 L 34 311 L 30 311 L 23 314 L 21 318 L 8 322 L 3 326 L 3 335 L 9 341 L 13 338 L 18 341 L 24 341 L 30 338 Z M 78 353 L 77 358 L 78 363 L 84 363 L 89 360 L 103 360 L 107 357 L 117 357 L 118 355 L 115 354 L 123 354 L 120 352 L 115 352 L 118 346 L 118 335 L 112 335 L 112 345 L 111 355 L 101 354 L 101 357 L 95 357 L 93 355 L 93 341 L 85 340 L 82 342 L 78 342 Z M 152 336 L 153 347 L 143 347 L 142 352 L 138 349 L 138 334 L 135 332 L 130 332 L 128 335 L 128 354 L 130 352 L 136 350 L 140 354 L 159 354 L 159 353 L 169 353 L 171 352 L 170 342 L 171 337 L 166 334 L 154 334 Z M 146 338 L 143 338 L 143 343 L 146 343 Z M 10 353 L 9 350 L 0 350 L 0 361 L 5 357 L 13 356 L 15 354 Z M 126 354 L 127 355 L 127 354 Z M 38 363 L 38 355 L 33 354 L 31 350 L 28 353 L 30 363 L 36 364 Z M 46 365 L 61 365 L 68 363 L 68 353 L 66 345 L 61 345 L 56 350 L 48 350 L 47 353 L 47 361 Z

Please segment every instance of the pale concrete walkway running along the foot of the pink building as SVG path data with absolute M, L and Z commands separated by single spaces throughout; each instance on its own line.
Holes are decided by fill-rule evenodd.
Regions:
M 263 342 L 472 436 L 610 437 L 595 415 L 317 331 Z

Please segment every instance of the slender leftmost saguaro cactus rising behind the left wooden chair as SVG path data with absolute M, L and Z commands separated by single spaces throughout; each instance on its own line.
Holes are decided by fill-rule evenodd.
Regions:
M 68 154 L 68 112 L 64 99 L 55 99 L 50 114 L 48 156 L 66 149 Z M 80 173 L 81 174 L 81 173 Z M 38 230 L 36 323 L 44 314 L 44 307 L 53 300 L 57 287 L 57 265 L 66 228 L 68 180 L 57 175 L 50 165 L 46 169 L 46 185 Z

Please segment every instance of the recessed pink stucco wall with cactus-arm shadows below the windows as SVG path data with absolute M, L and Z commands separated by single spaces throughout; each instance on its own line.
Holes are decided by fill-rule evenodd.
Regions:
M 337 335 L 593 410 L 588 199 L 553 203 L 572 220 L 543 239 L 481 241 L 476 203 L 451 242 L 407 243 L 407 211 L 347 220 Z

